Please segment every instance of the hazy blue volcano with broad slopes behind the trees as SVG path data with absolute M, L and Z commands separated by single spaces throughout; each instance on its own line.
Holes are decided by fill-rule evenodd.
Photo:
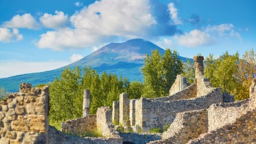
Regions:
M 83 57 L 83 59 L 72 63 L 69 68 L 79 66 L 83 68 L 90 65 L 98 73 L 106 71 L 107 73 L 114 73 L 118 76 L 127 77 L 129 81 L 142 81 L 143 75 L 140 73 L 140 68 L 143 65 L 143 57 L 146 54 L 150 55 L 151 50 L 158 49 L 163 55 L 165 50 L 158 47 L 156 44 L 143 39 L 131 39 L 124 43 L 111 43 L 93 52 L 91 55 Z M 187 62 L 185 57 L 180 57 L 181 60 Z M 64 68 L 58 68 L 53 71 L 45 71 L 40 73 L 28 73 L 18 76 L 11 76 L 9 78 L 0 79 L 0 87 L 4 87 L 10 92 L 18 91 L 20 83 L 28 82 L 33 86 L 37 84 L 47 84 L 53 81 L 55 77 L 59 77 Z

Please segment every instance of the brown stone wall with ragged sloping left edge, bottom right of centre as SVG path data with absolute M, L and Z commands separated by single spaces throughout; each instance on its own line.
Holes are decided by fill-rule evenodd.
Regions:
M 162 140 L 150 143 L 187 143 L 207 132 L 207 110 L 177 113 L 173 124 L 162 135 Z

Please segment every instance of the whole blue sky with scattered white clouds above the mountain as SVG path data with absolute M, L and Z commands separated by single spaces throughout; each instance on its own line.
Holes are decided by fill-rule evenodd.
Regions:
M 255 0 L 0 0 L 0 78 L 49 71 L 111 42 L 182 57 L 256 49 Z

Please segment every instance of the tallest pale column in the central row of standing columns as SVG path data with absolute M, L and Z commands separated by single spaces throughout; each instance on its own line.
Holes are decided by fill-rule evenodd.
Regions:
M 119 96 L 119 124 L 129 120 L 129 100 L 127 93 L 121 93 Z

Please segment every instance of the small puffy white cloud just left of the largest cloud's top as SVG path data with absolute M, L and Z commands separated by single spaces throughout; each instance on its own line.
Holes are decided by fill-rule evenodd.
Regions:
M 69 24 L 68 15 L 64 15 L 64 12 L 55 11 L 56 15 L 50 15 L 45 13 L 42 17 L 40 17 L 40 22 L 46 28 L 65 28 Z

